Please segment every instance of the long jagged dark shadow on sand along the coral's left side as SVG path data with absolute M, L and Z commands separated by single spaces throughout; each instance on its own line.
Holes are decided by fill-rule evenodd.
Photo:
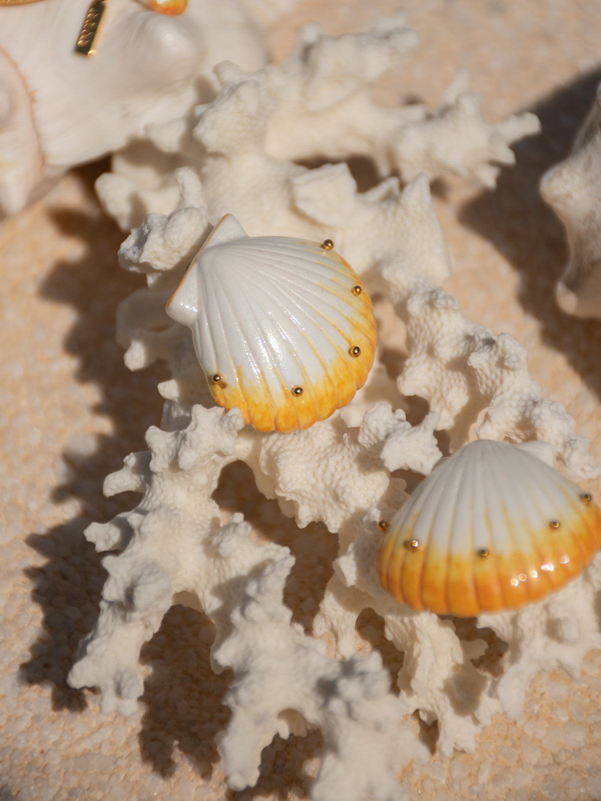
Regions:
M 55 709 L 81 709 L 86 704 L 83 691 L 71 690 L 65 679 L 79 639 L 98 617 L 106 578 L 101 555 L 87 543 L 83 529 L 91 521 L 110 520 L 137 502 L 134 493 L 103 497 L 103 480 L 120 468 L 127 453 L 145 447 L 144 431 L 160 419 L 162 408 L 156 384 L 163 380 L 164 367 L 131 373 L 115 344 L 117 304 L 142 282 L 141 276 L 119 268 L 116 253 L 123 233 L 95 203 L 94 180 L 107 166 L 103 161 L 79 171 L 89 201 L 83 203 L 83 211 L 49 211 L 61 234 L 82 246 L 83 255 L 54 264 L 39 290 L 46 300 L 75 309 L 77 316 L 63 348 L 78 361 L 78 383 L 95 387 L 98 401 L 93 409 L 107 417 L 111 430 L 95 437 L 75 435 L 67 441 L 58 457 L 58 485 L 52 500 L 71 505 L 76 501 L 78 511 L 63 525 L 26 538 L 47 562 L 25 570 L 43 618 L 42 635 L 30 646 L 31 656 L 21 665 L 21 677 L 32 684 L 49 683 Z

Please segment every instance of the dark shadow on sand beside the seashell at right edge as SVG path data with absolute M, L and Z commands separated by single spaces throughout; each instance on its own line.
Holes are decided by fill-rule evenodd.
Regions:
M 459 215 L 518 271 L 518 300 L 526 313 L 540 320 L 543 342 L 563 352 L 599 397 L 601 321 L 571 317 L 555 303 L 567 242 L 562 224 L 538 193 L 538 182 L 569 153 L 600 79 L 601 69 L 583 74 L 528 109 L 540 119 L 542 133 L 516 143 L 515 167 L 503 169 L 496 189 L 466 203 Z

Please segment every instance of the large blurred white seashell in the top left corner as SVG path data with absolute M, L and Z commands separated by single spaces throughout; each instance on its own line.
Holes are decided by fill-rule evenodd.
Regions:
M 207 102 L 218 89 L 216 62 L 258 69 L 267 59 L 263 34 L 237 0 L 189 0 L 176 16 L 110 0 L 95 55 L 85 58 L 75 43 L 89 5 L 0 7 L 0 218 L 69 167 Z

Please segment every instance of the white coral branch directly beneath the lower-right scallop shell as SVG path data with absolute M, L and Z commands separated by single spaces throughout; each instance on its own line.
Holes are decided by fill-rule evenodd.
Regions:
M 498 702 L 487 694 L 490 679 L 471 659 L 486 650 L 482 641 L 462 642 L 452 622 L 430 612 L 416 612 L 393 601 L 377 581 L 375 554 L 381 534 L 375 525 L 388 509 L 365 516 L 346 553 L 334 562 L 313 630 L 333 631 L 341 655 L 354 651 L 355 623 L 361 611 L 373 609 L 385 622 L 385 635 L 404 654 L 397 683 L 401 699 L 419 710 L 427 723 L 438 721 L 438 751 L 474 751 L 476 735 L 490 723 Z M 350 539 L 350 537 L 348 537 Z

